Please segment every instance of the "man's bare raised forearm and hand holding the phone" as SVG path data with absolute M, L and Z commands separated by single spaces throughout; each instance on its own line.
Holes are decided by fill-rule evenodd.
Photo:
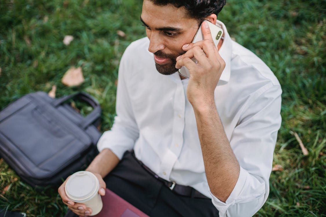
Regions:
M 225 62 L 205 21 L 201 31 L 204 40 L 184 45 L 186 53 L 177 57 L 175 67 L 189 69 L 187 97 L 196 117 L 207 182 L 212 194 L 225 202 L 238 180 L 240 166 L 225 135 L 214 100 Z M 198 63 L 191 60 L 193 57 Z

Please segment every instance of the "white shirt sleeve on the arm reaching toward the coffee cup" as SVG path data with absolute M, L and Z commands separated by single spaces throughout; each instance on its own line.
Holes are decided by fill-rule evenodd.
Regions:
M 117 96 L 116 96 L 116 116 L 111 130 L 103 133 L 97 143 L 98 151 L 105 148 L 110 149 L 119 159 L 127 150 L 134 147 L 136 139 L 139 137 L 139 129 L 130 103 L 126 88 L 126 76 L 128 67 L 126 53 L 122 56 L 119 65 Z

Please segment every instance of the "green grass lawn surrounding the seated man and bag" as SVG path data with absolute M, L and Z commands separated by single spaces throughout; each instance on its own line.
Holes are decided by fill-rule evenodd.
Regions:
M 283 170 L 272 172 L 269 198 L 256 216 L 326 216 L 325 6 L 325 0 L 229 0 L 218 16 L 231 37 L 265 61 L 283 89 L 274 153 Z M 0 0 L 0 109 L 56 85 L 57 97 L 93 95 L 103 110 L 101 130 L 110 129 L 119 60 L 131 41 L 145 36 L 140 13 L 141 0 Z M 69 46 L 62 43 L 65 35 L 74 36 Z M 80 87 L 61 84 L 71 66 L 82 67 Z M 290 131 L 299 134 L 308 156 Z M 36 192 L 2 160 L 0 179 L 0 209 L 64 216 L 56 189 Z

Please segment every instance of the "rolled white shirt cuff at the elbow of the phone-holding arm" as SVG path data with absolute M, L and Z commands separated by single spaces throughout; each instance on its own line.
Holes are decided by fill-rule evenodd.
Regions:
M 237 183 L 235 184 L 230 196 L 228 199 L 224 202 L 219 200 L 217 197 L 215 197 L 211 191 L 210 194 L 212 195 L 212 203 L 216 207 L 216 209 L 219 211 L 219 216 L 223 217 L 225 216 L 226 211 L 229 209 L 230 206 L 233 206 L 235 203 L 245 203 L 250 202 L 257 197 L 260 197 L 262 194 L 265 193 L 265 184 L 260 183 L 257 188 L 253 191 L 252 188 L 250 188 L 250 185 L 257 185 L 257 183 L 252 179 L 256 179 L 251 174 L 249 174 L 248 171 L 244 170 L 242 167 L 240 167 L 240 173 Z M 258 180 L 257 180 L 258 181 Z

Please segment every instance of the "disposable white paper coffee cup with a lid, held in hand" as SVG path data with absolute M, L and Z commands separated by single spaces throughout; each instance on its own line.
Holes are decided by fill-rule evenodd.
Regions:
M 72 174 L 65 187 L 68 198 L 76 203 L 84 203 L 92 209 L 91 215 L 102 210 L 101 196 L 97 193 L 100 183 L 97 177 L 88 171 L 79 171 Z

